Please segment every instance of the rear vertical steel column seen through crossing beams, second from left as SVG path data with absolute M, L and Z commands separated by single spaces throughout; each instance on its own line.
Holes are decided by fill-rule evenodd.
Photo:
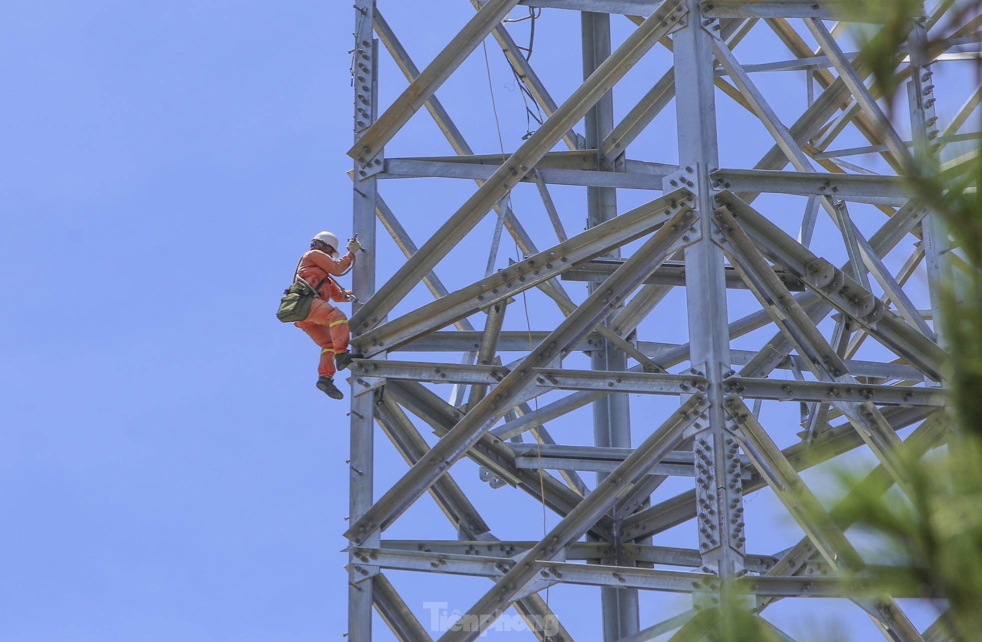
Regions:
M 584 11 L 581 13 L 583 43 L 583 79 L 592 74 L 611 55 L 610 14 Z M 604 138 L 614 130 L 614 92 L 608 91 L 585 117 L 586 147 L 600 147 Z M 599 167 L 614 169 L 616 163 L 598 158 Z M 624 162 L 622 152 L 620 162 Z M 592 228 L 617 216 L 617 189 L 614 187 L 586 188 L 586 227 Z M 620 249 L 607 256 L 620 257 Z M 589 292 L 597 287 L 589 284 Z M 606 323 L 605 323 L 606 325 Z M 627 370 L 627 355 L 604 339 L 598 349 L 590 354 L 590 367 L 594 370 Z M 593 441 L 596 446 L 630 448 L 630 407 L 627 395 L 608 395 L 593 402 Z M 599 484 L 607 476 L 597 473 Z M 617 560 L 605 560 L 617 563 Z M 604 639 L 613 642 L 636 633 L 640 628 L 637 591 L 603 587 L 600 589 L 603 604 Z

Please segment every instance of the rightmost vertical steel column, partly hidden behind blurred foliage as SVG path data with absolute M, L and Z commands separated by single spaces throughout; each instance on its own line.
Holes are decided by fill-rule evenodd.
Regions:
M 914 154 L 922 173 L 931 176 L 937 173 L 938 148 L 940 142 L 938 116 L 934 111 L 934 82 L 931 81 L 931 62 L 927 54 L 926 19 L 914 20 L 910 30 L 910 80 L 907 81 L 907 98 L 910 107 L 910 130 L 914 140 Z M 916 171 L 916 167 L 910 171 Z M 931 294 L 931 314 L 934 333 L 938 343 L 942 340 L 942 292 L 951 287 L 952 271 L 947 253 L 950 249 L 948 230 L 941 215 L 930 212 L 921 222 L 924 233 L 924 257 L 927 265 L 928 290 Z

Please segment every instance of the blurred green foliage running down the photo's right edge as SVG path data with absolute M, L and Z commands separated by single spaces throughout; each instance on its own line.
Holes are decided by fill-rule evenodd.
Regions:
M 914 20 L 928 29 L 924 48 L 929 55 L 945 51 L 947 41 L 972 34 L 982 24 L 982 0 L 929 3 L 926 17 L 911 20 L 919 12 L 917 0 L 856 0 L 842 16 L 848 22 L 873 16 L 878 23 L 850 29 L 861 45 L 857 65 L 868 65 L 870 90 L 886 102 L 894 122 L 908 118 L 910 67 L 904 57 Z M 975 77 L 977 85 L 982 80 L 978 63 Z M 955 93 L 967 96 L 971 90 Z M 978 132 L 980 125 L 976 120 L 961 129 Z M 942 129 L 942 134 L 955 132 Z M 910 449 L 900 453 L 905 497 L 864 492 L 857 478 L 844 474 L 843 516 L 876 543 L 879 559 L 870 562 L 886 564 L 866 572 L 889 593 L 944 596 L 937 600 L 940 624 L 960 642 L 982 639 L 982 195 L 976 190 L 982 183 L 982 159 L 977 139 L 961 145 L 966 153 L 944 164 L 938 158 L 942 147 L 936 139 L 902 162 L 909 165 L 913 193 L 938 213 L 954 240 L 946 256 L 951 276 L 942 293 L 943 315 L 935 320 L 951 354 L 946 364 L 946 385 L 953 391 L 948 446 L 923 457 Z

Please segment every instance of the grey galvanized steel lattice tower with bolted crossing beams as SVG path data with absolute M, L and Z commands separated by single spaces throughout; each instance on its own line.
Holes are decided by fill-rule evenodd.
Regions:
M 909 109 L 895 112 L 892 123 L 867 86 L 869 66 L 843 51 L 841 26 L 830 30 L 823 22 L 834 20 L 831 2 L 471 4 L 473 17 L 420 70 L 397 39 L 398 26 L 386 23 L 375 0 L 355 2 L 355 145 L 349 152 L 355 158 L 354 230 L 370 249 L 381 221 L 407 260 L 377 284 L 371 251 L 355 265 L 355 292 L 363 303 L 352 318 L 353 345 L 367 358 L 356 362 L 352 379 L 349 639 L 373 639 L 373 608 L 398 639 L 430 639 L 386 579 L 387 569 L 491 578 L 495 583 L 468 614 L 483 626 L 493 621 L 488 615 L 512 605 L 529 621 L 544 617 L 548 608 L 539 591 L 578 584 L 601 587 L 597 614 L 603 617 L 605 640 L 652 639 L 681 627 L 733 580 L 748 592 L 748 608 L 788 597 L 847 597 L 888 639 L 933 639 L 895 602 L 910 596 L 843 595 L 835 575 L 863 562 L 844 535 L 847 525 L 819 505 L 799 472 L 865 448 L 880 464 L 872 483 L 884 491 L 894 484 L 902 490 L 897 432 L 917 425 L 906 441 L 926 452 L 946 429 L 944 342 L 928 321 L 937 318 L 940 284 L 952 270 L 950 241 L 939 218 L 911 197 L 902 175 L 913 167 L 912 148 L 938 155 L 958 138 L 982 93 L 969 91 L 954 121 L 939 122 L 932 64 L 944 60 L 949 49 L 925 45 L 939 17 L 927 11 L 910 20 L 909 57 L 898 58 L 907 70 Z M 585 80 L 564 99 L 549 93 L 502 22 L 519 4 L 581 12 Z M 611 21 L 626 20 L 636 27 L 612 44 Z M 776 34 L 790 59 L 741 65 L 736 46 L 756 29 Z M 547 115 L 518 149 L 506 150 L 504 162 L 498 154 L 475 154 L 436 97 L 488 36 Z M 974 25 L 947 37 L 950 48 L 978 42 Z M 674 68 L 651 84 L 626 117 L 615 119 L 611 87 L 660 46 L 675 52 Z M 383 55 L 396 60 L 409 88 L 379 109 Z M 809 80 L 807 107 L 791 122 L 778 117 L 753 80 L 755 72 L 774 70 L 798 70 Z M 726 102 L 719 99 L 723 94 L 729 96 Z M 631 145 L 673 99 L 680 123 L 674 133 L 678 165 L 658 162 L 663 159 L 652 150 Z M 458 156 L 386 158 L 385 145 L 424 107 Z M 717 111 L 722 109 L 752 113 L 773 136 L 773 148 L 752 168 L 721 166 Z M 909 117 L 912 141 L 897 133 L 900 113 Z M 836 149 L 837 136 L 847 128 L 865 136 L 868 146 Z M 844 160 L 859 153 L 879 154 L 893 173 L 874 174 Z M 463 178 L 478 186 L 457 211 L 433 214 L 439 218 L 436 231 L 418 249 L 393 213 L 400 208 L 390 209 L 378 193 L 380 180 L 409 177 Z M 519 182 L 538 187 L 556 224 L 558 238 L 551 246 L 536 245 L 510 209 L 506 197 Z M 585 231 L 567 237 L 550 185 L 586 187 Z M 619 189 L 653 193 L 647 203 L 619 210 Z M 797 238 L 775 223 L 787 212 L 755 206 L 766 193 L 807 199 L 803 216 L 796 212 Z M 875 234 L 860 232 L 849 206 L 885 214 Z M 490 275 L 480 269 L 483 259 L 475 261 L 481 265 L 474 268 L 471 285 L 448 292 L 436 273 L 469 267 L 441 261 L 492 210 L 524 257 Z M 821 247 L 811 242 L 820 210 L 836 230 L 823 237 Z M 914 243 L 914 250 L 900 272 L 891 271 L 883 259 L 900 241 Z M 633 244 L 622 256 L 627 243 Z M 847 256 L 845 262 L 823 257 L 833 244 L 844 250 L 837 255 Z M 920 264 L 926 266 L 930 309 L 918 309 L 904 291 Z M 561 280 L 590 283 L 588 294 L 571 300 Z M 413 301 L 412 311 L 390 315 L 419 283 L 435 299 Z M 685 291 L 688 341 L 657 343 L 658 337 L 644 337 L 638 328 L 658 313 L 659 302 L 673 289 Z M 728 289 L 751 293 L 756 310 L 734 318 Z M 526 291 L 547 294 L 564 313 L 555 327 L 532 328 L 531 348 L 521 333 L 502 329 L 506 305 Z M 474 329 L 468 317 L 483 328 Z M 733 346 L 768 326 L 770 338 L 755 349 Z M 882 348 L 885 356 L 858 358 L 864 342 Z M 412 350 L 444 356 L 440 362 L 419 362 L 412 360 Z M 504 351 L 517 352 L 518 359 L 501 365 L 495 357 Z M 564 358 L 576 351 L 589 354 L 589 369 L 563 367 Z M 782 378 L 769 378 L 775 371 L 784 373 Z M 431 383 L 457 386 L 448 401 Z M 556 391 L 572 392 L 531 410 L 537 397 Z M 679 406 L 646 417 L 643 426 L 635 417 L 631 444 L 628 393 L 676 396 Z M 761 425 L 761 401 L 800 404 L 798 443 L 776 445 L 771 428 Z M 593 443 L 556 444 L 543 424 L 587 404 L 593 411 Z M 432 448 L 416 420 L 440 436 Z M 514 441 L 521 434 L 539 443 Z M 391 440 L 411 464 L 398 484 L 377 493 L 373 471 L 382 462 L 373 452 L 376 435 Z M 477 462 L 496 484 L 516 489 L 494 491 L 503 493 L 501 501 L 509 501 L 504 493 L 526 493 L 559 515 L 558 524 L 539 542 L 499 542 L 447 474 L 462 457 Z M 540 477 L 529 465 L 532 459 L 541 461 L 546 474 Z M 580 479 L 583 471 L 598 473 L 592 489 Z M 670 476 L 690 479 L 690 490 L 659 494 Z M 773 490 L 805 533 L 789 550 L 747 551 L 743 498 L 762 488 Z M 450 518 L 450 537 L 383 540 L 386 528 L 427 494 Z M 534 512 L 530 518 L 536 518 Z M 687 549 L 652 543 L 653 536 L 689 520 L 695 520 L 697 540 Z M 693 610 L 639 632 L 641 590 L 689 593 Z M 562 626 L 550 633 L 548 639 L 573 639 Z M 447 631 L 440 639 L 477 635 L 476 630 Z M 702 637 L 700 631 L 685 635 Z

